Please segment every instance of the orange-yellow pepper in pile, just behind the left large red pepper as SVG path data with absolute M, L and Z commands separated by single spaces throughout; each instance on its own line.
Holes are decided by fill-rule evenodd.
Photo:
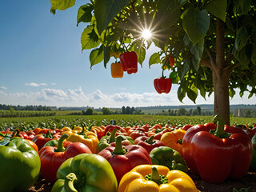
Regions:
M 98 146 L 98 138 L 97 135 L 93 132 L 87 131 L 85 132 L 84 127 L 83 130 L 78 134 L 70 134 L 70 136 L 66 139 L 68 142 L 82 142 L 86 146 L 89 147 L 90 151 L 93 154 L 97 152 Z

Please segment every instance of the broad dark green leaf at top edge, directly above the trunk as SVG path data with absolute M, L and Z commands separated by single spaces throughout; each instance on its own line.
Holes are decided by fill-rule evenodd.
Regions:
M 206 5 L 206 10 L 216 18 L 220 18 L 223 22 L 226 22 L 226 6 L 226 0 L 212 0 Z

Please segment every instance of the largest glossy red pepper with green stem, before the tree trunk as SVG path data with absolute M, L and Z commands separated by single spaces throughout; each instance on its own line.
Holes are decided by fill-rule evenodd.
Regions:
M 210 183 L 242 178 L 252 158 L 250 138 L 245 133 L 224 131 L 224 120 L 218 115 L 214 117 L 216 121 L 216 136 L 210 134 L 209 126 L 193 126 L 186 131 L 182 147 L 186 165 Z

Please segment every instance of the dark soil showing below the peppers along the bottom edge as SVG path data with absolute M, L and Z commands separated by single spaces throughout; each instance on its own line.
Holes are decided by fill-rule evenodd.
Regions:
M 192 172 L 189 172 L 189 175 L 197 186 L 198 192 L 256 192 L 256 172 L 249 171 L 238 180 L 228 179 L 221 184 L 204 182 L 198 175 L 195 175 Z M 34 186 L 30 187 L 29 192 L 50 192 L 51 188 L 52 185 L 50 185 L 50 182 L 47 182 L 40 174 L 38 181 Z

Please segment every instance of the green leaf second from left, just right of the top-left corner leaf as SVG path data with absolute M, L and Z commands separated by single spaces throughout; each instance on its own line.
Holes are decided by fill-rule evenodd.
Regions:
M 90 22 L 92 18 L 92 10 L 94 10 L 94 6 L 90 3 L 87 3 L 86 5 L 80 6 L 78 9 L 78 17 L 77 21 L 79 22 Z M 77 26 L 78 26 L 77 23 Z

